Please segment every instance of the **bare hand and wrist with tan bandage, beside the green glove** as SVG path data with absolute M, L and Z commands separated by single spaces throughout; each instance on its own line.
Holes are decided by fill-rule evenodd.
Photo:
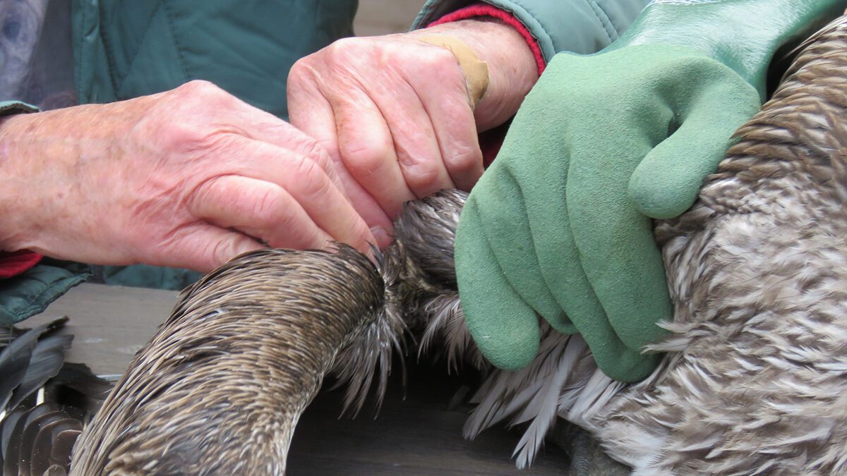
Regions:
M 489 64 L 472 110 L 457 59 L 418 40 L 454 36 Z M 478 133 L 517 110 L 537 80 L 533 54 L 511 26 L 469 19 L 390 36 L 346 38 L 302 58 L 288 76 L 291 124 L 339 166 L 340 184 L 380 246 L 403 202 L 470 190 L 483 171 Z

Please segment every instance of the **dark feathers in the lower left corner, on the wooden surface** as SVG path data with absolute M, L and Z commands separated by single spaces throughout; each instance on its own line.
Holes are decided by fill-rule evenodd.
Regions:
M 64 476 L 75 440 L 110 385 L 64 361 L 68 318 L 36 329 L 0 328 L 0 471 Z

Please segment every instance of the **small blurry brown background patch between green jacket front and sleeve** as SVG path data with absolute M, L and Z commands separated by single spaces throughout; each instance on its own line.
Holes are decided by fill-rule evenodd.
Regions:
M 424 3 L 425 0 L 359 0 L 353 30 L 356 36 L 407 31 Z

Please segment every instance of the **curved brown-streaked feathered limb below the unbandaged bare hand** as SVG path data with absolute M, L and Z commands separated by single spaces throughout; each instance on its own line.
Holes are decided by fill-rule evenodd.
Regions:
M 346 246 L 252 252 L 206 275 L 80 436 L 71 474 L 283 473 L 297 418 L 378 320 L 381 288 Z

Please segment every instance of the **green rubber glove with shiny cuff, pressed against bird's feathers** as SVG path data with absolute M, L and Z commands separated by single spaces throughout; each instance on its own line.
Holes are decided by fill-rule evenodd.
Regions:
M 558 54 L 462 211 L 462 310 L 491 363 L 538 352 L 538 316 L 583 335 L 613 379 L 638 381 L 670 320 L 652 218 L 694 202 L 765 96 L 767 66 L 844 0 L 651 3 L 612 46 Z

